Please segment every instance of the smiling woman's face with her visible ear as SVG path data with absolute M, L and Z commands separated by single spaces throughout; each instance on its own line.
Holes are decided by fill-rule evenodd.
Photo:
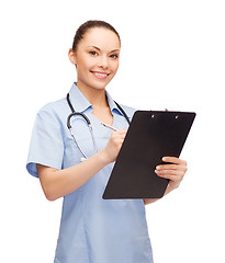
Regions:
M 117 35 L 103 27 L 90 28 L 69 50 L 70 61 L 77 68 L 77 85 L 103 90 L 119 68 L 120 41 Z

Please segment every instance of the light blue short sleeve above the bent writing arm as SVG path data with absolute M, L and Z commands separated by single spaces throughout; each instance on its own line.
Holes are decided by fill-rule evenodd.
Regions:
M 38 178 L 36 163 L 60 170 L 64 157 L 64 139 L 60 121 L 52 108 L 42 108 L 34 123 L 26 170 Z

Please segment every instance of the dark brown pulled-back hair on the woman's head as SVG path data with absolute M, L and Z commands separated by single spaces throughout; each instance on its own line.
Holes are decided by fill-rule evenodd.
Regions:
M 81 24 L 76 32 L 76 35 L 74 37 L 74 43 L 72 43 L 74 52 L 77 50 L 77 46 L 78 46 L 79 42 L 83 38 L 87 31 L 90 28 L 93 28 L 93 27 L 104 27 L 104 28 L 108 28 L 108 30 L 114 32 L 117 35 L 119 41 L 121 43 L 121 37 L 120 37 L 117 31 L 111 24 L 109 24 L 104 21 L 101 21 L 101 20 L 89 20 L 86 23 Z

